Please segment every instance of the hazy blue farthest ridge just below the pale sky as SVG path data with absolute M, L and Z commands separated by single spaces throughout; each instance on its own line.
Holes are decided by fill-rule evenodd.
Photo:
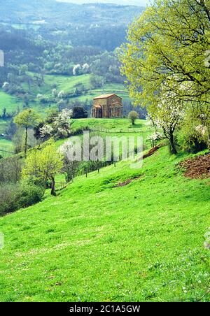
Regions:
M 144 8 L 114 4 L 73 4 L 55 0 L 0 0 L 0 22 L 50 24 L 114 23 L 128 24 Z

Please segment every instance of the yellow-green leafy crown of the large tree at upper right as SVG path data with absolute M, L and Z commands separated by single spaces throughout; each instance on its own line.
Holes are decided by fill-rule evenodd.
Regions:
M 136 101 L 157 102 L 165 82 L 183 99 L 208 99 L 209 31 L 209 0 L 154 1 L 130 27 L 121 55 Z

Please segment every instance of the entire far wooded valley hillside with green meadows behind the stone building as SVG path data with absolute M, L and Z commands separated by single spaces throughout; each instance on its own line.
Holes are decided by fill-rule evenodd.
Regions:
M 127 24 L 144 8 L 55 0 L 1 2 L 5 64 L 0 67 L 0 151 L 13 148 L 16 129 L 10 125 L 28 107 L 44 117 L 52 106 L 59 111 L 81 106 L 90 117 L 95 96 L 116 93 L 123 98 L 123 116 L 128 115 L 132 99 L 116 48 L 125 41 Z M 145 111 L 137 111 L 144 118 Z

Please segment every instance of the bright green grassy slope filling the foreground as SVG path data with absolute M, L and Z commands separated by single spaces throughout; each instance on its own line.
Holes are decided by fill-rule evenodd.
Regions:
M 183 178 L 183 158 L 162 148 L 1 218 L 1 301 L 207 301 L 209 180 Z

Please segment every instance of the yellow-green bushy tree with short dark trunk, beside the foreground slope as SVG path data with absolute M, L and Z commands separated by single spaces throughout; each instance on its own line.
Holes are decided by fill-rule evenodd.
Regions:
M 25 159 L 22 178 L 35 183 L 41 182 L 43 185 L 51 180 L 51 194 L 55 196 L 55 175 L 62 169 L 62 159 L 62 155 L 57 152 L 52 141 L 49 141 L 42 149 L 34 148 Z

